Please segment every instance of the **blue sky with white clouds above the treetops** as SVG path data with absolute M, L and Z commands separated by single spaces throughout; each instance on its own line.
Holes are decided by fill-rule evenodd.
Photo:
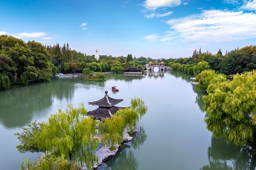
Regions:
M 256 45 L 256 0 L 2 0 L 0 35 L 114 57 Z

